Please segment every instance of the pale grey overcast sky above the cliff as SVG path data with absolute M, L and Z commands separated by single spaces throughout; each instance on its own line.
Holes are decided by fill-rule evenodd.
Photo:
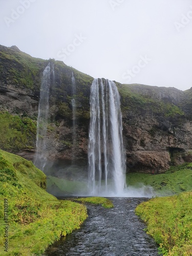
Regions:
M 94 78 L 192 87 L 191 0 L 0 0 L 0 44 Z

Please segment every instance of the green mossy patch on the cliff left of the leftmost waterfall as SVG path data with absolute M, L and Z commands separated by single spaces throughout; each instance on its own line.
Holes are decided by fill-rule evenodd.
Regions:
M 34 148 L 36 139 L 36 121 L 29 117 L 0 112 L 0 147 L 16 152 L 25 148 Z

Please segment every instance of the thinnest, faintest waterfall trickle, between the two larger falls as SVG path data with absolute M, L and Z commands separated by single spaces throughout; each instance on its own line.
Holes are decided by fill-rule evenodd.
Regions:
M 73 111 L 73 148 L 75 147 L 76 142 L 76 102 L 75 102 L 75 95 L 76 95 L 76 82 L 75 77 L 72 72 L 72 93 L 73 93 L 73 99 L 71 100 L 72 104 L 72 111 Z M 73 158 L 74 158 L 74 150 L 73 150 Z

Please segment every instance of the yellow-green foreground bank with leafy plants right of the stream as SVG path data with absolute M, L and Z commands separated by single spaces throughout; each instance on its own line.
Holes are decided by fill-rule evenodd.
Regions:
M 154 198 L 136 208 L 166 256 L 192 255 L 192 192 Z

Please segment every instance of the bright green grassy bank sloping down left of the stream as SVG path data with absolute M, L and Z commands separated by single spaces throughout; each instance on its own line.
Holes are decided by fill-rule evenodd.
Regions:
M 87 218 L 85 206 L 45 189 L 46 176 L 32 162 L 0 150 L 0 255 L 41 255 Z

